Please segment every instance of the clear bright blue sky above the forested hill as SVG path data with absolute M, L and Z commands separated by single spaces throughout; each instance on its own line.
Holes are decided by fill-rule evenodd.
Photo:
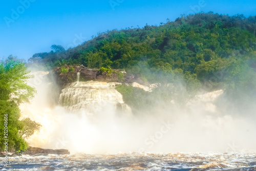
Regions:
M 51 45 L 68 47 L 106 30 L 159 25 L 181 14 L 213 11 L 219 14 L 256 15 L 256 1 L 210 0 L 21 0 L 0 7 L 0 58 L 28 59 L 50 52 Z

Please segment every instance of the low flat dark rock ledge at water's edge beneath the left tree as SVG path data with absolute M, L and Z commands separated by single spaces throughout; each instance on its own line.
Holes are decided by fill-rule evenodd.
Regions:
M 48 154 L 57 154 L 57 155 L 65 155 L 70 154 L 69 150 L 66 149 L 41 149 L 29 146 L 28 150 L 25 151 L 23 154 L 25 155 L 48 155 Z

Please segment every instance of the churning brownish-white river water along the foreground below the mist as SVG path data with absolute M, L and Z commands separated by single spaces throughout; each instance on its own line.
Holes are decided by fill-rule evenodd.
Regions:
M 256 170 L 256 156 L 255 153 L 23 155 L 9 158 L 9 166 L 2 170 Z

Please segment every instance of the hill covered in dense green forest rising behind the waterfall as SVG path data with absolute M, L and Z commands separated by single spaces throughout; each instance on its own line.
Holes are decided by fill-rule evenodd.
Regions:
M 181 76 L 187 90 L 251 90 L 256 85 L 255 31 L 255 16 L 199 13 L 173 22 L 167 19 L 158 27 L 99 33 L 67 51 L 52 45 L 53 51 L 35 54 L 29 61 L 125 69 L 148 82 L 172 82 Z

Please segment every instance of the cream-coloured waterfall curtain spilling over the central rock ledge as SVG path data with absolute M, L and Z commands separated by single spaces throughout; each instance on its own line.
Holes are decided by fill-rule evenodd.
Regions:
M 115 89 L 118 84 L 97 81 L 71 83 L 62 89 L 59 104 L 71 111 L 86 109 L 92 113 L 106 104 L 124 104 L 122 95 Z

